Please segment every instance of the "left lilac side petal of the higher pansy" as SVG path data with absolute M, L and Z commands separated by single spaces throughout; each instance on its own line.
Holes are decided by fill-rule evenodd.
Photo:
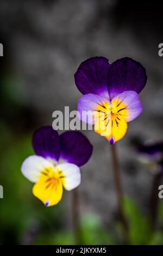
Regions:
M 92 93 L 82 96 L 78 102 L 78 118 L 85 123 L 95 124 L 97 116 L 94 111 L 99 105 L 106 102 L 109 102 L 109 97 L 106 98 Z

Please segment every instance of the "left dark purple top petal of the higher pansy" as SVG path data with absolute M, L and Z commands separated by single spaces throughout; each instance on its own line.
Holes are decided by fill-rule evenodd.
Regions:
M 93 57 L 82 62 L 74 75 L 78 90 L 83 94 L 94 93 L 108 96 L 109 67 L 109 61 L 104 57 Z

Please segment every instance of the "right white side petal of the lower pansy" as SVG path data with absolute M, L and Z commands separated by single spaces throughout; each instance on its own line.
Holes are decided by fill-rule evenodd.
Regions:
M 79 186 L 81 181 L 80 169 L 76 164 L 59 164 L 57 165 L 64 178 L 62 178 L 62 184 L 66 190 L 72 190 Z

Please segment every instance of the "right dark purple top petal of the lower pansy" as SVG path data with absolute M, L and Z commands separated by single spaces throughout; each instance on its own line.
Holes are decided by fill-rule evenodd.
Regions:
M 60 135 L 60 157 L 69 163 L 81 166 L 91 157 L 93 147 L 81 132 L 67 131 Z

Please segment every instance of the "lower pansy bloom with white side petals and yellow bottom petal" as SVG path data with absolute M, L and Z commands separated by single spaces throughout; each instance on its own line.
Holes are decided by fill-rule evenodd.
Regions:
M 37 129 L 33 135 L 34 156 L 26 158 L 22 174 L 34 182 L 33 194 L 45 206 L 62 198 L 63 187 L 72 190 L 80 184 L 79 166 L 92 154 L 92 145 L 80 132 L 67 131 L 60 136 L 51 126 Z

